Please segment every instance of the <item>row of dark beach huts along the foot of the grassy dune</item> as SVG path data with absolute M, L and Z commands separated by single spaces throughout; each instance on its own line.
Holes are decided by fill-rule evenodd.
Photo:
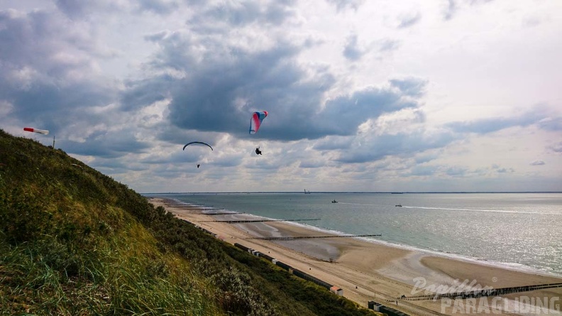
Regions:
M 197 227 L 198 229 L 201 229 L 202 231 L 205 231 L 207 234 L 210 234 L 211 236 L 214 236 L 215 238 L 218 238 L 218 235 L 215 234 L 214 232 L 209 231 L 208 229 L 204 229 L 203 227 L 197 226 L 196 224 L 194 224 L 192 222 L 189 222 L 186 219 L 182 219 L 182 220 L 184 222 L 187 222 L 188 224 L 192 224 L 194 227 Z M 277 260 L 276 258 L 273 258 L 272 256 L 269 256 L 267 254 L 263 254 L 262 252 L 257 251 L 255 249 L 250 249 L 247 246 L 244 246 L 243 244 L 234 243 L 234 246 L 236 246 L 236 248 L 238 248 L 238 249 L 241 249 L 242 251 L 247 251 L 249 254 L 252 254 L 253 256 L 264 258 L 265 260 L 270 261 L 272 264 L 275 264 L 276 266 L 279 266 L 280 268 L 288 271 L 289 273 L 292 273 L 294 276 L 298 276 L 299 278 L 303 278 L 304 280 L 309 280 L 312 283 L 320 285 L 323 288 L 327 288 L 331 293 L 343 296 L 343 289 L 338 287 L 337 285 L 331 285 L 330 283 L 327 283 L 324 280 L 320 280 L 319 278 L 311 276 L 308 273 L 300 271 L 297 268 L 293 268 L 292 266 L 289 266 L 287 263 L 283 263 L 283 262 Z M 389 316 L 408 316 L 404 312 L 400 312 L 400 310 L 395 310 L 394 308 L 387 307 L 387 306 L 382 305 L 380 303 L 376 303 L 375 301 L 369 301 L 368 302 L 368 308 L 370 310 L 375 310 L 376 312 L 385 313 Z

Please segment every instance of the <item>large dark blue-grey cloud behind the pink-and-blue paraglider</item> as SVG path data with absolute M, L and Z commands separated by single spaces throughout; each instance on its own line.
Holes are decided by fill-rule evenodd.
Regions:
M 150 67 L 157 73 L 172 69 L 186 75 L 128 83 L 123 109 L 137 110 L 169 96 L 170 123 L 181 129 L 247 137 L 250 113 L 267 110 L 269 116 L 254 138 L 294 141 L 352 135 L 370 118 L 418 107 L 414 99 L 403 97 L 421 97 L 426 85 L 416 78 L 397 79 L 390 87 L 366 87 L 323 103 L 334 76 L 326 68 L 311 72 L 299 65 L 295 60 L 303 46 L 280 40 L 248 50 L 223 42 L 219 46 L 211 38 L 202 46 L 185 33 L 156 39 L 161 50 Z

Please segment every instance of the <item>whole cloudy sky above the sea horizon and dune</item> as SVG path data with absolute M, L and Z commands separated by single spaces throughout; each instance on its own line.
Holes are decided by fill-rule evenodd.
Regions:
M 551 0 L 4 0 L 0 129 L 54 136 L 137 192 L 562 191 L 560 16 Z

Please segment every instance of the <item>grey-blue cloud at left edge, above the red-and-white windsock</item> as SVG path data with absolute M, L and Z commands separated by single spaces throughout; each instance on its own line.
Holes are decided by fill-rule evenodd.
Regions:
M 12 118 L 56 134 L 116 96 L 115 82 L 97 73 L 94 60 L 105 58 L 104 48 L 88 26 L 56 13 L 10 10 L 0 11 L 0 25 L 0 101 L 13 106 Z

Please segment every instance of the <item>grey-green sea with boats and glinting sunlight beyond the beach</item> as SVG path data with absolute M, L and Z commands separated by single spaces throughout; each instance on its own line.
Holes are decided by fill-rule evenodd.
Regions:
M 562 276 L 562 193 L 158 194 L 442 256 Z M 331 203 L 332 200 L 338 203 Z M 396 207 L 395 205 L 402 205 Z

